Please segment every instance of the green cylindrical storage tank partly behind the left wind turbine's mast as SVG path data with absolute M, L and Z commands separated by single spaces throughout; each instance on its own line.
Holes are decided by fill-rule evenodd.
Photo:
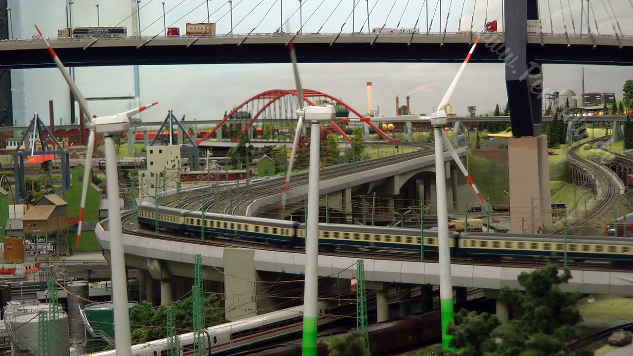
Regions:
M 128 302 L 128 311 L 136 304 L 137 302 Z M 88 339 L 87 352 L 103 351 L 108 346 L 108 341 L 115 340 L 114 302 L 88 304 L 84 313 L 94 331 Z

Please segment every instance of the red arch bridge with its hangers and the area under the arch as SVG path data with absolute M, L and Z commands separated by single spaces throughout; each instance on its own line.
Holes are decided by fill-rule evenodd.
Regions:
M 262 136 L 272 134 L 275 130 L 289 130 L 290 127 L 294 127 L 294 124 L 298 120 L 296 111 L 299 109 L 299 100 L 297 96 L 297 91 L 294 89 L 273 89 L 261 92 L 227 113 L 213 130 L 206 132 L 200 139 L 197 139 L 196 144 L 200 144 L 209 137 L 212 137 L 216 134 L 217 130 L 220 129 L 222 129 L 220 132 L 222 137 L 231 137 L 231 141 L 234 142 L 239 141 L 243 135 L 247 134 L 247 132 L 253 128 L 256 121 L 257 125 L 254 127 L 254 131 Z M 329 125 L 332 130 L 341 134 L 348 142 L 351 140 L 344 128 L 339 125 L 339 119 L 348 118 L 350 113 L 359 118 L 365 117 L 365 115 L 354 110 L 354 108 L 341 101 L 341 99 L 334 98 L 324 92 L 304 89 L 303 101 L 312 106 L 334 105 L 336 118 L 335 120 L 331 120 Z M 309 125 L 310 123 L 306 124 Z M 366 122 L 366 124 L 370 125 L 372 129 L 387 141 L 391 143 L 399 142 L 399 140 L 389 137 L 389 135 L 385 134 L 385 132 L 371 122 Z M 273 137 L 266 138 L 272 139 Z

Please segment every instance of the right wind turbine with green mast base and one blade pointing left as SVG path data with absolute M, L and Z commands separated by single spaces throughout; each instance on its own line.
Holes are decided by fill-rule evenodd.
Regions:
M 442 314 L 442 347 L 448 348 L 449 342 L 453 339 L 453 336 L 446 334 L 446 326 L 449 322 L 454 322 L 453 311 L 453 283 L 451 282 L 451 255 L 448 243 L 448 205 L 446 203 L 446 176 L 444 174 L 444 147 L 448 149 L 451 157 L 460 167 L 461 172 L 466 177 L 468 184 L 473 188 L 481 203 L 484 203 L 484 198 L 475 187 L 475 183 L 468 175 L 466 167 L 461 163 L 460 158 L 453 149 L 446 132 L 442 129 L 446 125 L 446 111 L 444 107 L 448 104 L 449 98 L 457 85 L 458 80 L 461 77 L 461 73 L 466 67 L 470 56 L 472 56 L 477 42 L 479 42 L 480 35 L 477 36 L 475 43 L 468 52 L 466 59 L 461 63 L 460 70 L 455 75 L 453 82 L 448 87 L 448 91 L 444 94 L 444 98 L 437 106 L 437 111 L 430 115 L 430 117 L 423 117 L 421 115 L 401 115 L 395 117 L 377 117 L 377 118 L 351 118 L 342 119 L 341 122 L 368 122 L 368 121 L 389 121 L 389 122 L 430 122 L 433 125 L 435 136 L 435 163 L 436 163 L 436 196 L 437 196 L 437 237 L 438 250 L 439 250 L 439 293 L 440 293 L 440 307 Z M 373 119 L 373 120 L 372 120 Z M 443 144 L 443 145 L 442 145 Z M 443 146 L 443 147 L 442 147 Z

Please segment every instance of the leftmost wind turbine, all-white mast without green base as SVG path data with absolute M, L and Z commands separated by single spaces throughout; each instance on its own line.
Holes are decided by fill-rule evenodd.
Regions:
M 84 95 L 81 93 L 75 82 L 73 82 L 70 75 L 66 71 L 66 68 L 61 63 L 60 58 L 51 48 L 51 44 L 47 41 L 46 37 L 42 35 L 42 32 L 35 25 L 37 33 L 39 33 L 42 40 L 46 44 L 49 54 L 53 58 L 53 61 L 60 69 L 64 79 L 68 83 L 70 90 L 75 94 L 75 98 L 79 103 L 79 106 L 84 111 L 84 114 L 89 118 L 87 127 L 90 129 L 90 136 L 88 139 L 87 151 L 85 153 L 85 171 L 84 171 L 84 184 L 82 186 L 82 201 L 80 207 L 80 220 L 77 232 L 77 246 L 79 244 L 79 238 L 81 234 L 82 220 L 84 217 L 85 207 L 85 195 L 88 188 L 88 179 L 90 177 L 89 172 L 92 164 L 92 149 L 94 148 L 94 135 L 95 132 L 104 135 L 104 144 L 106 149 L 106 184 L 108 188 L 108 216 L 110 219 L 110 264 L 111 264 L 111 278 L 112 278 L 112 298 L 114 304 L 114 319 L 115 319 L 115 345 L 116 354 L 123 356 L 132 356 L 132 344 L 130 340 L 130 317 L 128 315 L 127 306 L 127 281 L 125 280 L 125 256 L 123 254 L 123 231 L 121 227 L 121 210 L 118 204 L 118 174 L 116 172 L 116 151 L 115 143 L 112 138 L 113 134 L 117 132 L 127 132 L 130 127 L 130 117 L 135 114 L 150 108 L 158 103 L 151 103 L 150 105 L 141 106 L 133 110 L 125 111 L 124 113 L 118 113 L 108 117 L 92 117 L 88 108 L 88 102 Z M 83 120 L 83 118 L 80 118 Z

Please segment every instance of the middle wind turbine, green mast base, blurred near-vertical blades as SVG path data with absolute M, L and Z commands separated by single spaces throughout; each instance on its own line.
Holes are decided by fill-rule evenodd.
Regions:
M 286 181 L 284 185 L 284 193 L 282 193 L 282 213 L 285 207 L 285 199 L 287 197 L 287 188 L 292 170 L 292 160 L 297 150 L 301 129 L 303 129 L 303 119 L 310 121 L 310 168 L 308 174 L 308 210 L 306 212 L 307 231 L 306 231 L 306 269 L 304 282 L 303 297 L 303 356 L 316 356 L 316 329 L 318 325 L 318 201 L 319 201 L 319 158 L 321 130 L 319 122 L 328 122 L 334 120 L 334 106 L 304 106 L 303 89 L 301 89 L 301 79 L 299 78 L 299 69 L 297 67 L 297 56 L 294 53 L 294 45 L 292 41 L 288 43 L 290 50 L 290 58 L 292 61 L 292 70 L 294 72 L 294 81 L 297 87 L 297 98 L 299 99 L 299 121 L 297 129 L 294 132 L 294 141 L 292 141 L 292 151 L 288 170 L 286 172 Z

